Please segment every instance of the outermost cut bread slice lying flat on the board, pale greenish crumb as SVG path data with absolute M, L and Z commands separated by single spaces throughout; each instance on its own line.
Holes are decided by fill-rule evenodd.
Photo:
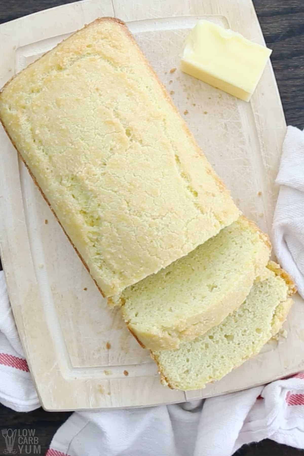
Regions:
M 242 306 L 220 325 L 179 350 L 152 353 L 162 383 L 172 389 L 200 389 L 240 366 L 278 333 L 295 291 L 289 275 L 270 262 Z

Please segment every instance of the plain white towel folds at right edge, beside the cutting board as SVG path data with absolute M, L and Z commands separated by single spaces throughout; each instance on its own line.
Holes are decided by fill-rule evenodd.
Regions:
M 273 250 L 304 298 L 304 132 L 288 127 L 276 183 Z

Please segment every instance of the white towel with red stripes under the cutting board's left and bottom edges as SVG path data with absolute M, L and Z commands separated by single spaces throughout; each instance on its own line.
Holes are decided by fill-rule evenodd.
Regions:
M 165 388 L 165 387 L 164 387 Z M 40 406 L 0 272 L 0 402 Z M 142 409 L 75 412 L 47 456 L 231 456 L 265 438 L 304 448 L 304 374 L 224 396 Z

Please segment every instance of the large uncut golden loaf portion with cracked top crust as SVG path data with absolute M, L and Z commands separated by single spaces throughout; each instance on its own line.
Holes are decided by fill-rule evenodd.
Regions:
M 97 19 L 10 80 L 0 119 L 105 296 L 239 216 L 118 19 Z

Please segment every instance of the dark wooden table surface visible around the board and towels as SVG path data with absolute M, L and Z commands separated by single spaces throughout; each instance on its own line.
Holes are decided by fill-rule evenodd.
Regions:
M 52 6 L 72 3 L 72 1 L 0 0 L 0 23 Z M 303 129 L 304 0 L 253 0 L 253 2 L 266 43 L 273 49 L 271 60 L 278 81 L 287 124 L 293 124 Z M 2 269 L 1 263 L 0 269 Z M 70 413 L 45 412 L 42 409 L 31 413 L 16 413 L 0 406 L 0 428 L 35 429 L 42 455 L 48 448 L 55 431 L 69 415 Z M 4 450 L 4 440 L 0 440 L 0 453 L 2 454 Z M 272 440 L 263 440 L 258 444 L 243 446 L 235 456 L 237 455 L 296 456 L 304 455 L 304 451 L 278 445 Z

